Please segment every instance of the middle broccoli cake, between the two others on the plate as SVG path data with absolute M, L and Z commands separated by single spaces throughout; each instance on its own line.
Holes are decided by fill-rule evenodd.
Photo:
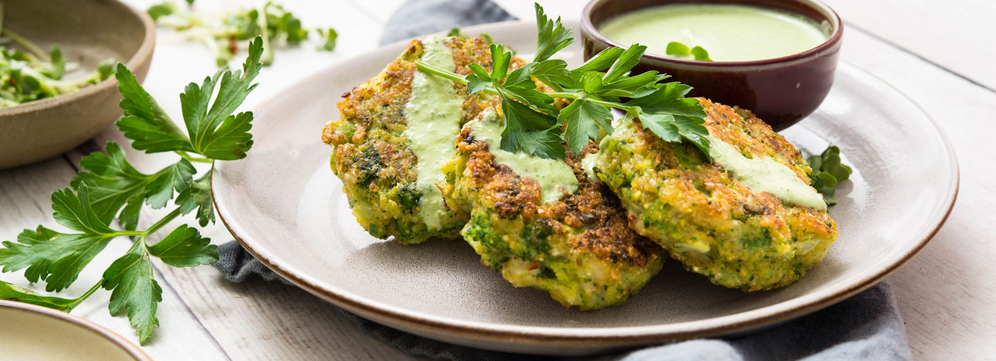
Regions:
M 583 310 L 624 302 L 660 270 L 663 249 L 629 228 L 619 198 L 579 158 L 508 153 L 502 129 L 498 112 L 482 112 L 443 167 L 446 202 L 469 218 L 461 234 L 484 265 Z M 585 154 L 597 150 L 592 142 Z

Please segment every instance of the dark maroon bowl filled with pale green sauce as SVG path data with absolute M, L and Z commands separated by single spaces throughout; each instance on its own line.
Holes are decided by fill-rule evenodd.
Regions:
M 843 30 L 817 0 L 594 0 L 581 33 L 585 59 L 639 43 L 647 50 L 633 74 L 668 74 L 690 96 L 751 110 L 779 131 L 827 97 Z M 668 52 L 671 42 L 705 49 L 709 61 Z

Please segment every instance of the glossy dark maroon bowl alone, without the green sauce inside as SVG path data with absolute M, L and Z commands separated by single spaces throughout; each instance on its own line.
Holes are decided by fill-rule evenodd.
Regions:
M 671 80 L 694 87 L 691 96 L 750 109 L 781 131 L 820 107 L 830 93 L 837 69 L 844 23 L 829 6 L 817 0 L 594 0 L 582 13 L 581 35 L 585 59 L 612 47 L 628 47 L 599 32 L 616 16 L 647 7 L 675 3 L 754 5 L 802 14 L 831 29 L 830 38 L 809 51 L 782 58 L 748 62 L 706 62 L 644 54 L 632 74 L 646 71 L 671 75 Z M 647 34 L 647 37 L 655 36 Z

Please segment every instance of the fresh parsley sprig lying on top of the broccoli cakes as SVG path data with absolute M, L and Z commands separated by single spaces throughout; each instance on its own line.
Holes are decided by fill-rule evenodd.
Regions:
M 571 30 L 564 28 L 559 18 L 549 19 L 539 4 L 536 22 L 536 57 L 511 73 L 508 65 L 512 54 L 497 44 L 491 45 L 490 73 L 479 64 L 469 65 L 473 73 L 467 76 L 422 62 L 415 64 L 420 71 L 466 85 L 468 93 L 500 96 L 506 122 L 501 149 L 508 152 L 563 159 L 562 144 L 566 141 L 568 149 L 579 155 L 590 140 L 612 134 L 611 109 L 616 108 L 627 117 L 638 118 L 661 140 L 687 141 L 709 158 L 709 132 L 702 125 L 705 112 L 697 100 L 685 98 L 691 87 L 664 83 L 668 76 L 655 71 L 629 75 L 646 47 L 634 44 L 627 49 L 607 49 L 581 67 L 568 70 L 566 62 L 551 58 L 574 42 Z M 554 92 L 537 91 L 534 79 Z M 555 99 L 571 104 L 559 110 L 553 105 Z

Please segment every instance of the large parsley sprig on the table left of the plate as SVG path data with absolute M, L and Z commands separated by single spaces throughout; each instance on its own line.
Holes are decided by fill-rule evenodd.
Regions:
M 118 128 L 131 146 L 145 153 L 172 152 L 179 160 L 156 173 L 144 174 L 132 167 L 124 150 L 109 143 L 106 153 L 85 157 L 85 171 L 71 186 L 52 193 L 53 217 L 70 231 L 57 231 L 43 225 L 25 229 L 17 241 L 4 241 L 0 266 L 4 272 L 25 269 L 29 282 L 45 282 L 45 290 L 60 292 L 79 277 L 80 272 L 114 239 L 133 237 L 131 247 L 104 271 L 102 279 L 77 298 L 41 295 L 0 281 L 0 299 L 13 299 L 45 307 L 71 311 L 97 290 L 111 291 L 112 314 L 125 312 L 131 326 L 144 342 L 159 321 L 156 308 L 162 301 L 162 288 L 156 282 L 151 259 L 158 258 L 174 267 L 208 264 L 218 259 L 217 246 L 191 226 L 181 224 L 165 237 L 150 237 L 177 216 L 194 209 L 201 226 L 214 221 L 211 171 L 194 178 L 193 163 L 238 160 L 252 147 L 252 113 L 235 111 L 256 88 L 253 79 L 262 67 L 263 40 L 249 45 L 249 57 L 241 71 L 224 69 L 207 77 L 200 85 L 190 83 L 180 94 L 186 134 L 176 127 L 154 99 L 138 85 L 134 76 L 119 64 L 116 77 L 124 100 L 124 117 Z M 217 88 L 216 96 L 215 88 Z M 189 135 L 189 136 L 188 136 Z M 166 215 L 137 230 L 143 204 L 162 208 L 173 199 Z M 115 219 L 121 229 L 113 227 Z

